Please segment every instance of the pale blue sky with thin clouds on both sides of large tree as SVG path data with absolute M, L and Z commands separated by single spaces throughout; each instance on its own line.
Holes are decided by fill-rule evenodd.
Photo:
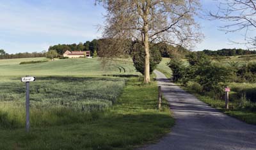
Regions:
M 216 11 L 216 1 L 201 0 L 206 12 Z M 58 43 L 79 43 L 100 38 L 104 24 L 102 6 L 94 0 L 0 0 L 0 49 L 9 54 L 42 52 Z M 242 48 L 230 40 L 244 41 L 243 33 L 218 30 L 218 20 L 196 17 L 205 38 L 194 50 Z

